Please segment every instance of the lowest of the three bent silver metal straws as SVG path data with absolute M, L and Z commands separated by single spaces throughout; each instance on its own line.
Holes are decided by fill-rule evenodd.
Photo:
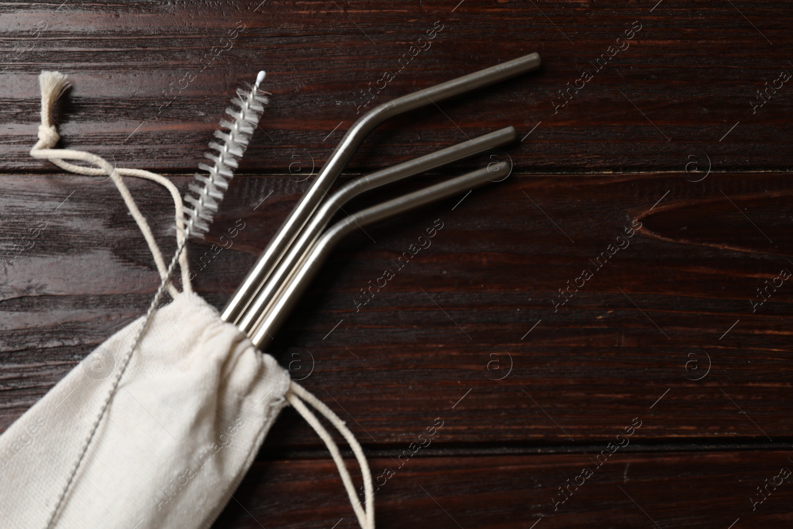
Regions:
M 310 251 L 305 255 L 305 259 L 298 264 L 297 268 L 293 269 L 292 274 L 286 279 L 282 288 L 270 302 L 270 305 L 266 307 L 265 312 L 259 317 L 255 327 L 247 332 L 248 337 L 259 349 L 263 349 L 270 343 L 272 335 L 275 334 L 287 316 L 289 316 L 289 312 L 297 304 L 301 294 L 308 287 L 316 272 L 320 270 L 324 260 L 328 258 L 335 245 L 350 232 L 359 227 L 374 224 L 378 220 L 393 217 L 410 209 L 429 204 L 432 201 L 481 186 L 488 182 L 488 178 L 491 178 L 492 174 L 504 174 L 508 171 L 508 168 L 509 164 L 507 162 L 500 162 L 495 165 L 489 164 L 488 167 L 483 167 L 457 178 L 440 182 L 435 184 L 435 186 L 429 186 L 423 190 L 374 205 L 354 213 L 346 219 L 339 220 L 313 243 Z

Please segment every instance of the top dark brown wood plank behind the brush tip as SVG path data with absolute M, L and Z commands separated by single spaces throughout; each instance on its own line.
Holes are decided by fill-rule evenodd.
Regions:
M 385 71 L 367 108 L 536 51 L 542 71 L 390 122 L 351 170 L 506 125 L 526 137 L 510 149 L 523 171 L 684 172 L 690 155 L 720 171 L 790 167 L 787 2 L 653 3 L 14 2 L 0 35 L 3 166 L 49 171 L 28 155 L 43 69 L 75 85 L 58 112 L 64 145 L 193 171 L 227 94 L 264 68 L 272 104 L 244 165 L 285 173 L 296 159 L 321 166 Z M 426 50 L 399 63 L 414 44 Z

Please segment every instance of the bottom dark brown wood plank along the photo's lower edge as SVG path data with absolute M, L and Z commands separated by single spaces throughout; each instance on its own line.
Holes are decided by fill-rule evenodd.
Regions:
M 597 451 L 422 457 L 419 450 L 400 468 L 401 450 L 393 450 L 393 458 L 371 461 L 376 476 L 393 471 L 376 493 L 377 527 L 790 527 L 793 488 L 790 477 L 777 478 L 790 472 L 789 452 L 648 454 L 630 446 L 601 455 L 600 467 L 590 459 Z M 592 471 L 586 480 L 584 468 Z M 768 485 L 766 499 L 753 504 L 764 497 L 757 487 L 775 478 L 782 484 Z M 329 459 L 257 462 L 234 497 L 213 527 L 358 527 Z

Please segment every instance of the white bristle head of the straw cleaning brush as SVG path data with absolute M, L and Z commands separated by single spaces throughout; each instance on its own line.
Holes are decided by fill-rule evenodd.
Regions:
M 185 194 L 185 203 L 192 207 L 185 207 L 185 224 L 188 236 L 197 236 L 203 239 L 209 232 L 209 223 L 217 213 L 217 207 L 228 190 L 228 181 L 234 177 L 251 136 L 259 124 L 259 118 L 267 104 L 268 94 L 259 90 L 265 78 L 265 72 L 260 71 L 256 76 L 256 83 L 250 90 L 237 89 L 237 97 L 232 99 L 235 106 L 229 106 L 226 113 L 231 121 L 221 120 L 220 127 L 227 128 L 228 132 L 216 130 L 217 142 L 209 142 L 209 148 L 215 152 L 205 152 L 204 157 L 213 162 L 213 165 L 199 163 L 198 168 L 206 174 L 196 173 L 195 182 L 190 183 L 190 192 Z

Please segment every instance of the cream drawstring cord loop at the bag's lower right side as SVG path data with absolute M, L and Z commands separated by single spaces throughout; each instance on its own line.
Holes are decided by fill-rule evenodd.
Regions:
M 344 421 L 339 419 L 339 416 L 337 416 L 333 410 L 331 410 L 331 408 L 328 408 L 324 402 L 314 397 L 312 393 L 308 393 L 308 391 L 301 385 L 298 385 L 297 382 L 292 381 L 289 384 L 289 389 L 287 390 L 285 397 L 286 401 L 288 401 L 289 404 L 292 404 L 293 408 L 295 408 L 297 412 L 303 416 L 306 422 L 308 422 L 308 424 L 314 428 L 314 431 L 316 431 L 317 435 L 319 435 L 324 441 L 325 446 L 327 446 L 328 450 L 330 450 L 333 461 L 336 463 L 336 467 L 339 469 L 339 474 L 342 477 L 344 488 L 347 489 L 347 496 L 350 498 L 350 504 L 352 505 L 352 508 L 355 512 L 355 516 L 358 517 L 358 523 L 360 524 L 361 529 L 374 529 L 374 486 L 372 485 L 372 473 L 369 469 L 369 462 L 366 461 L 366 455 L 363 454 L 361 445 L 358 444 L 358 439 L 355 439 L 355 436 L 347 427 L 347 425 L 344 424 Z M 358 466 L 361 467 L 364 496 L 366 499 L 366 510 L 361 507 L 361 502 L 358 500 L 358 494 L 355 493 L 354 486 L 352 485 L 350 472 L 347 470 L 347 466 L 344 464 L 344 460 L 339 453 L 339 447 L 336 446 L 336 443 L 331 435 L 311 412 L 311 410 L 309 410 L 308 407 L 303 403 L 303 401 L 311 404 L 312 407 L 316 409 L 316 411 L 320 412 L 322 416 L 328 419 L 331 424 L 336 427 L 336 429 L 344 436 L 344 439 L 347 439 L 347 443 L 349 443 L 353 453 L 355 454 L 355 458 L 358 460 Z

